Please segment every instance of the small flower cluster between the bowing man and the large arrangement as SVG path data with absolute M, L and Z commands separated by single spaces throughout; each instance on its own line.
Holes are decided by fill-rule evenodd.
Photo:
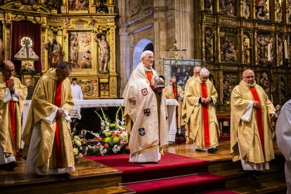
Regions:
M 86 131 L 82 131 L 82 134 L 79 136 L 75 136 L 75 133 L 71 133 L 72 138 L 72 146 L 73 146 L 73 152 L 75 159 L 78 159 L 80 157 L 83 157 L 83 155 L 86 153 L 86 138 L 84 136 L 86 135 Z

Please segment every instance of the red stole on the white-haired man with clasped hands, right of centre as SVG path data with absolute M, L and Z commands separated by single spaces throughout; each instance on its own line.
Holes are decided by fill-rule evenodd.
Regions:
M 205 83 L 201 83 L 201 91 L 202 91 L 202 98 L 207 98 L 207 89 L 206 89 Z M 202 118 L 203 118 L 205 147 L 209 147 L 210 140 L 209 140 L 209 122 L 208 122 L 207 104 L 204 104 L 204 103 L 201 103 L 201 104 L 202 104 Z

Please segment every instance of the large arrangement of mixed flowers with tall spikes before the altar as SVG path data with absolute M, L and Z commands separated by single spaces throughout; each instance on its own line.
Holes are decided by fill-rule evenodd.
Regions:
M 115 122 L 110 122 L 108 117 L 103 112 L 101 108 L 103 117 L 96 112 L 98 117 L 101 119 L 101 133 L 89 132 L 94 136 L 92 140 L 88 140 L 89 144 L 86 147 L 87 155 L 108 155 L 117 153 L 129 153 L 128 146 L 128 135 L 127 129 L 125 127 L 125 121 L 119 119 L 119 112 L 122 112 L 122 107 L 120 106 L 115 115 Z

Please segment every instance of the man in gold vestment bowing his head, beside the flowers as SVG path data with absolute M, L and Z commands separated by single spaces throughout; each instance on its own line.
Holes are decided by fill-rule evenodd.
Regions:
M 67 172 L 75 171 L 69 123 L 74 102 L 67 78 L 71 71 L 70 64 L 62 61 L 41 76 L 35 87 L 23 133 L 27 174 L 70 178 Z

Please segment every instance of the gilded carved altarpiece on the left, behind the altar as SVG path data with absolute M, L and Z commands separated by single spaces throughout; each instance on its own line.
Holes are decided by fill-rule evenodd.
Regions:
M 52 6 L 48 1 L 40 0 L 24 4 L 21 1 L 6 1 L 1 4 L 0 20 L 4 24 L 1 30 L 6 51 L 10 51 L 11 21 L 28 20 L 41 23 L 41 71 L 48 70 L 48 51 L 45 45 L 48 40 L 56 41 L 63 48 L 63 60 L 72 60 L 71 52 L 75 49 L 77 60 L 74 63 L 70 79 L 77 77 L 82 87 L 84 98 L 117 98 L 117 72 L 115 61 L 115 17 L 112 0 L 76 1 L 81 4 L 72 5 L 70 1 L 61 1 L 61 4 Z M 99 1 L 98 1 L 99 2 Z M 99 2 L 100 3 L 100 2 Z M 74 7 L 73 7 L 74 6 Z M 97 33 L 105 36 L 108 44 L 108 71 L 100 72 L 101 48 L 94 40 Z M 74 43 L 73 41 L 76 41 Z M 75 47 L 74 47 L 75 46 Z M 9 52 L 5 59 L 13 59 Z

